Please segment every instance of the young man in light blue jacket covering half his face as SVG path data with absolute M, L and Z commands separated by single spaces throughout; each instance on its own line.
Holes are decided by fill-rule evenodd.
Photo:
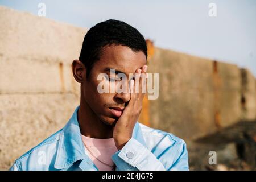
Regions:
M 129 24 L 107 20 L 90 28 L 73 61 L 80 106 L 63 129 L 10 170 L 188 170 L 184 140 L 137 122 L 144 93 L 134 91 L 146 84 L 146 60 L 146 42 Z M 122 81 L 118 73 L 134 75 L 127 79 L 127 92 L 100 93 L 102 82 L 111 88 Z

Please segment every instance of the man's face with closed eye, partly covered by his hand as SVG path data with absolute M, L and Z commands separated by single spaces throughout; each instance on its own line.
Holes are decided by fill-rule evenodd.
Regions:
M 105 85 L 117 85 L 118 81 L 110 79 L 110 69 L 122 72 L 129 81 L 129 73 L 142 68 L 146 64 L 146 56 L 142 51 L 134 52 L 126 46 L 106 46 L 102 49 L 100 60 L 94 63 L 90 76 L 85 79 L 82 86 L 82 102 L 86 102 L 90 109 L 97 115 L 100 121 L 106 125 L 113 125 L 122 114 L 127 102 L 130 100 L 129 93 L 99 93 L 97 88 L 102 80 L 97 77 L 100 73 L 106 73 L 109 79 L 104 79 Z M 113 73 L 112 73 L 113 74 Z M 127 83 L 128 84 L 128 83 Z

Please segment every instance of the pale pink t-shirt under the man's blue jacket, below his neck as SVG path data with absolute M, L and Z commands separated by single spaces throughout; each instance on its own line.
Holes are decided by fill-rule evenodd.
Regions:
M 112 168 L 107 166 L 114 166 L 114 162 L 112 161 L 112 155 L 117 152 L 117 147 L 115 147 L 114 138 L 107 139 L 98 139 L 98 138 L 90 138 L 84 135 L 81 135 L 82 141 L 89 148 L 90 152 L 85 147 L 85 150 L 89 154 L 90 159 L 92 159 L 93 163 L 97 166 L 100 171 L 111 171 Z M 92 154 L 93 155 L 92 155 Z M 97 159 L 101 160 L 106 164 L 101 163 Z

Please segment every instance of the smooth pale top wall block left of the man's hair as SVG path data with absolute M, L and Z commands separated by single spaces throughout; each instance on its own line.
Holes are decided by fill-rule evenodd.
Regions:
M 11 17 L 11 18 L 10 18 Z M 86 28 L 0 6 L 0 55 L 64 63 L 78 59 Z

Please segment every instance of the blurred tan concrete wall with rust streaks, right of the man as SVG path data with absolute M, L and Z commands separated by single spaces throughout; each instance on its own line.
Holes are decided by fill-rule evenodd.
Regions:
M 148 64 L 148 72 L 159 73 L 159 98 L 149 104 L 152 127 L 194 140 L 256 118 L 248 69 L 161 48 Z

